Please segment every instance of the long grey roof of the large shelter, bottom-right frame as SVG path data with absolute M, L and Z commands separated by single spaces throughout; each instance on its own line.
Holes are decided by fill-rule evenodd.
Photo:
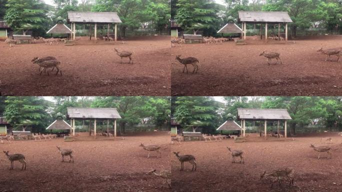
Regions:
M 282 108 L 237 108 L 237 119 L 292 119 Z

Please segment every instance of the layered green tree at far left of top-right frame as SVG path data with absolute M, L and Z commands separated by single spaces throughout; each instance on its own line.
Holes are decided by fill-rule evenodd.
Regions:
M 216 4 L 212 0 L 178 0 L 175 19 L 185 29 L 196 34 L 199 29 L 215 28 L 219 22 Z

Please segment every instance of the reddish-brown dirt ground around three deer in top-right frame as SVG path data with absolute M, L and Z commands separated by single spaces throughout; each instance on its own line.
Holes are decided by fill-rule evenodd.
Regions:
M 324 62 L 317 50 L 341 47 L 342 35 L 284 41 L 248 40 L 217 45 L 184 44 L 171 48 L 172 95 L 341 95 L 342 61 Z M 263 51 L 280 53 L 282 64 L 268 65 Z M 175 55 L 199 60 L 198 73 L 182 73 Z M 342 59 L 342 58 L 341 58 Z M 274 60 L 273 60 L 274 62 Z M 192 66 L 188 66 L 192 72 Z

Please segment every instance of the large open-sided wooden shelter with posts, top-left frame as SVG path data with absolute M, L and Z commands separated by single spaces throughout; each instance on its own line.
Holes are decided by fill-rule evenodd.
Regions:
M 94 24 L 94 37 L 97 39 L 97 23 L 107 24 L 107 36 L 109 36 L 110 23 L 115 23 L 114 39 L 117 39 L 117 23 L 121 20 L 116 12 L 81 12 L 67 11 L 67 22 L 71 23 L 72 39 L 75 40 L 76 24 Z

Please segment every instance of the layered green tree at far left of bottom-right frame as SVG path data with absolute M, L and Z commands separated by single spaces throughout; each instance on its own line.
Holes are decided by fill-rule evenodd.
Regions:
M 213 132 L 218 121 L 217 103 L 211 97 L 205 96 L 179 96 L 175 101 L 176 107 L 173 116 L 183 126 L 196 131 Z

